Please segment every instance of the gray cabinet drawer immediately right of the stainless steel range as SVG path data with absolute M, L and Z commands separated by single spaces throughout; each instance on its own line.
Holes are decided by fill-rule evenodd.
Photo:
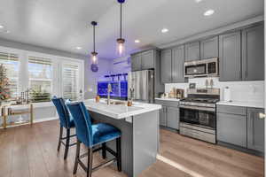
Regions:
M 246 116 L 246 107 L 231 106 L 231 105 L 217 105 L 217 112 Z

